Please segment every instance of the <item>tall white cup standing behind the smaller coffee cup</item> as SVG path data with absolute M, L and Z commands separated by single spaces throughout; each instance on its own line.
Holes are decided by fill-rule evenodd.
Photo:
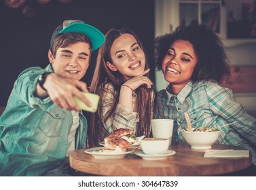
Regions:
M 153 138 L 168 138 L 172 143 L 173 119 L 152 119 L 151 128 Z

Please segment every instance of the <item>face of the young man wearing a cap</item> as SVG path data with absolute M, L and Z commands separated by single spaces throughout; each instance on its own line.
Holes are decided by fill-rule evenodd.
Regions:
M 58 48 L 55 58 L 51 51 L 48 56 L 54 73 L 80 80 L 89 67 L 90 46 L 85 42 L 77 42 L 66 48 Z

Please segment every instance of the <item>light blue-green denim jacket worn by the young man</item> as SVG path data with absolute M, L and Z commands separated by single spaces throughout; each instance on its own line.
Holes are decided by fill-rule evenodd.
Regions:
M 34 95 L 45 72 L 53 72 L 50 64 L 24 70 L 14 83 L 0 117 L 0 176 L 41 176 L 65 159 L 73 117 L 49 97 Z M 84 147 L 87 134 L 86 117 L 80 112 L 79 118 L 75 149 Z

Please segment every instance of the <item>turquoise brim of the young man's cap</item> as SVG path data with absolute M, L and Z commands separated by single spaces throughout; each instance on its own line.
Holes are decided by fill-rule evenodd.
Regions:
M 82 33 L 86 35 L 92 42 L 92 52 L 100 48 L 100 45 L 103 45 L 105 41 L 105 36 L 94 26 L 82 22 L 74 22 L 67 26 L 65 29 L 60 31 L 62 33 Z

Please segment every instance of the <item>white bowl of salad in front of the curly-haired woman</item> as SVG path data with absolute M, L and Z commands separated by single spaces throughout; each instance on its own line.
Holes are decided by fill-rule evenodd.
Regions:
M 183 137 L 191 146 L 191 149 L 211 149 L 219 137 L 220 131 L 215 132 L 182 132 Z

